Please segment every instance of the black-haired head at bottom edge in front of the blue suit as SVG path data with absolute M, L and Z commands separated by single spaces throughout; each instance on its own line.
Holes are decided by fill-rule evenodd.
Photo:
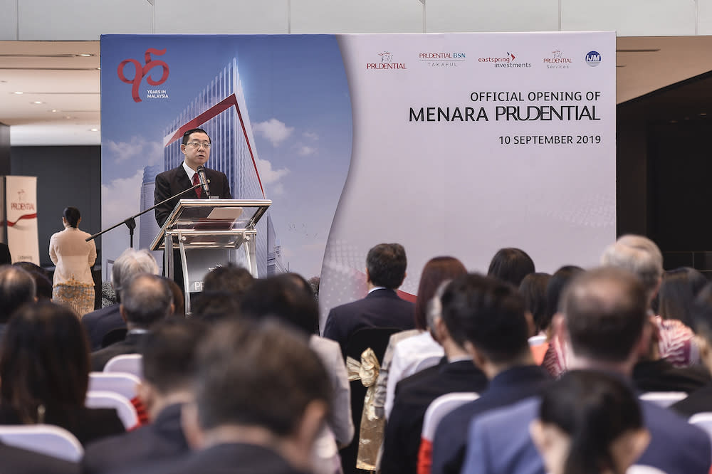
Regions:
M 624 473 L 650 442 L 630 387 L 585 370 L 545 391 L 529 430 L 550 474 Z

